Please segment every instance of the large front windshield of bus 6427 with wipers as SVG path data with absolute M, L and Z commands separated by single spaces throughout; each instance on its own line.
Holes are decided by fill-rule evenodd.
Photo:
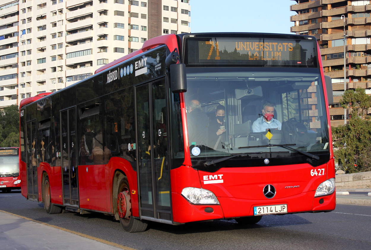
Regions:
M 185 105 L 196 168 L 210 169 L 204 162 L 237 154 L 241 156 L 219 163 L 219 168 L 264 165 L 265 158 L 276 165 L 307 161 L 295 150 L 272 146 L 282 144 L 326 155 L 313 165 L 328 160 L 328 124 L 318 68 L 188 68 Z M 271 120 L 266 119 L 269 114 Z M 284 124 L 288 120 L 296 123 L 296 140 L 290 139 L 292 132 Z

